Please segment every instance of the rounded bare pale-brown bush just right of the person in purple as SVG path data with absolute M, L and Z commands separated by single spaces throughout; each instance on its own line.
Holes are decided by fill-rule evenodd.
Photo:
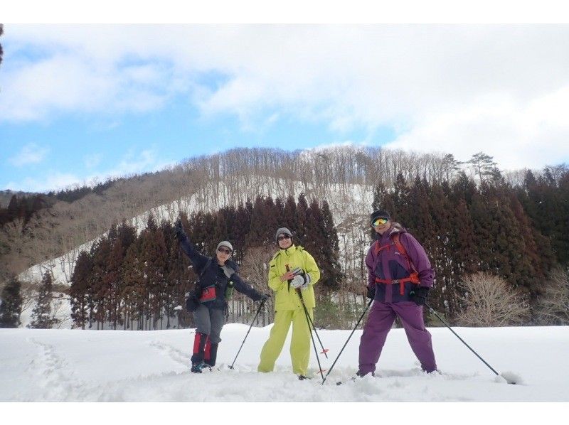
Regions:
M 528 297 L 499 276 L 479 272 L 462 280 L 464 311 L 457 320 L 464 326 L 516 326 L 529 316 Z

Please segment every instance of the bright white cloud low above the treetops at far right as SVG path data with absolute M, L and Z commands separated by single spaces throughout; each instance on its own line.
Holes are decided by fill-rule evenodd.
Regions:
M 424 114 L 388 147 L 452 152 L 461 161 L 484 151 L 500 168 L 541 168 L 569 160 L 569 85 L 515 102 L 489 96 L 467 108 Z

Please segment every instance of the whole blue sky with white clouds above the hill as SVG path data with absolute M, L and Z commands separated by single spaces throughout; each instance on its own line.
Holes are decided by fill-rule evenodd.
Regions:
M 0 190 L 238 146 L 569 162 L 569 27 L 4 26 Z

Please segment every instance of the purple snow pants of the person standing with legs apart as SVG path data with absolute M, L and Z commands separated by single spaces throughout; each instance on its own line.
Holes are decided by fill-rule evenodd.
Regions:
M 435 353 L 432 351 L 431 334 L 422 320 L 422 306 L 412 301 L 400 303 L 373 301 L 360 340 L 360 375 L 375 372 L 376 363 L 381 355 L 385 338 L 395 321 L 395 315 L 399 316 L 403 323 L 409 344 L 421 362 L 422 370 L 432 372 L 437 369 Z

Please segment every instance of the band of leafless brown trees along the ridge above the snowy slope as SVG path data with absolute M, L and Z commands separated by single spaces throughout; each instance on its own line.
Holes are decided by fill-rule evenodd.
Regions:
M 361 184 L 373 193 L 383 181 L 452 175 L 454 160 L 444 155 L 407 154 L 382 149 L 334 149 L 287 152 L 279 149 L 233 149 L 182 161 L 156 173 L 124 176 L 91 187 L 68 188 L 41 196 L 11 196 L 0 208 L 0 278 L 58 257 L 107 232 L 112 223 L 129 220 L 159 205 L 198 198 L 201 208 L 245 203 L 257 195 L 325 198 L 333 190 L 348 193 Z M 186 205 L 187 206 L 187 205 Z

